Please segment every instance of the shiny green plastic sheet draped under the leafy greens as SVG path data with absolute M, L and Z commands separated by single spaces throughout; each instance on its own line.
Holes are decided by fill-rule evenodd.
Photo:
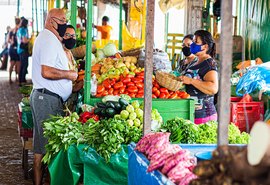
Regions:
M 67 151 L 61 150 L 50 162 L 51 185 L 126 185 L 128 176 L 127 147 L 112 155 L 106 163 L 88 145 L 72 145 Z

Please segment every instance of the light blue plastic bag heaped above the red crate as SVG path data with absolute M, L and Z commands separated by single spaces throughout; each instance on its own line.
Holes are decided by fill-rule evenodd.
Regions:
M 243 96 L 256 90 L 270 90 L 270 62 L 251 67 L 239 80 L 236 86 L 236 95 Z

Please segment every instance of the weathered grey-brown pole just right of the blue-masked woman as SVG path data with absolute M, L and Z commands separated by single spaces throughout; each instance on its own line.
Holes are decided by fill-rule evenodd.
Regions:
M 218 97 L 218 144 L 228 144 L 232 73 L 232 0 L 221 2 L 221 67 Z

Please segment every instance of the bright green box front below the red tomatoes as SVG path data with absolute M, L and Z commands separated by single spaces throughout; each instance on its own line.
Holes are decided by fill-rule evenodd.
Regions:
M 142 98 L 133 100 L 143 102 Z M 91 98 L 90 105 L 94 106 L 97 102 L 101 102 L 101 98 Z M 153 99 L 152 107 L 158 110 L 164 122 L 175 117 L 194 122 L 195 104 L 193 99 Z

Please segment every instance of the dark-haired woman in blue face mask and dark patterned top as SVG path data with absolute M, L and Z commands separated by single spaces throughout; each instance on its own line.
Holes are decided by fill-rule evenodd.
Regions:
M 201 124 L 217 120 L 214 106 L 214 95 L 218 92 L 216 46 L 208 31 L 198 30 L 194 35 L 190 51 L 198 61 L 188 66 L 179 78 L 186 85 L 187 93 L 195 99 L 195 123 Z

